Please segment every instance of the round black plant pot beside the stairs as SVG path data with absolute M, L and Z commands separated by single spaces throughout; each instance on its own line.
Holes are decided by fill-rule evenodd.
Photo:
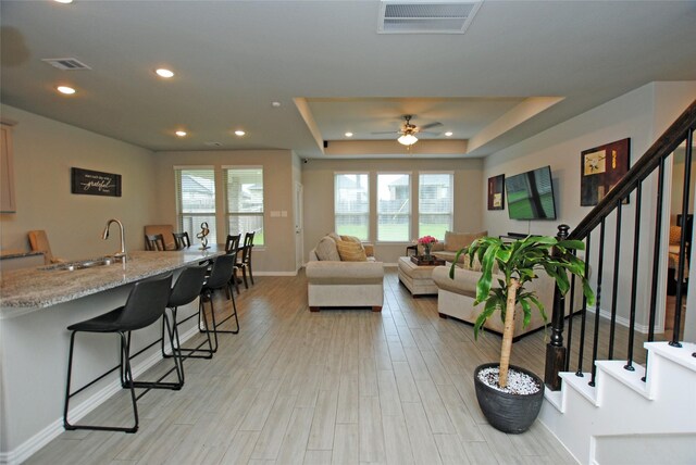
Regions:
M 530 370 L 510 365 L 510 369 L 521 372 L 534 378 L 539 390 L 533 394 L 511 394 L 498 391 L 478 379 L 478 372 L 496 367 L 497 363 L 478 365 L 474 370 L 476 399 L 484 416 L 496 429 L 502 432 L 520 433 L 529 429 L 542 410 L 544 402 L 544 381 Z

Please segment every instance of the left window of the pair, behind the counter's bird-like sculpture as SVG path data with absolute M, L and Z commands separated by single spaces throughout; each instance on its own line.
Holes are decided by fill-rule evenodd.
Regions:
M 178 230 L 188 232 L 191 241 L 208 223 L 208 242 L 216 242 L 215 171 L 210 167 L 175 167 L 176 214 Z

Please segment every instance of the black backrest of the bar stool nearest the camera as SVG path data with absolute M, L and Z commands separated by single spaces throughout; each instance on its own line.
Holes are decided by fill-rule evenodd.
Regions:
M 162 317 L 170 298 L 172 274 L 135 284 L 117 326 L 124 331 L 145 328 Z

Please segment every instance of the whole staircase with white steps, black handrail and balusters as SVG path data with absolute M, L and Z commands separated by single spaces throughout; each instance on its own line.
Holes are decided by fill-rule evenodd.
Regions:
M 682 312 L 674 312 L 671 340 L 655 341 L 660 331 L 657 302 L 666 292 L 662 259 L 667 256 L 664 232 L 670 225 L 666 163 L 678 148 L 684 151 L 685 188 L 679 217 L 688 218 L 695 131 L 696 101 L 575 229 L 569 234 L 568 226 L 559 226 L 559 239 L 585 242 L 585 272 L 596 294 L 596 307 L 588 311 L 583 301 L 579 314 L 566 318 L 564 298 L 557 289 L 546 348 L 548 389 L 539 419 L 582 464 L 696 464 L 696 343 L 679 339 Z M 649 218 L 650 227 L 642 223 L 642 215 Z M 687 225 L 688 219 L 678 223 L 678 284 L 685 282 L 687 276 L 686 252 L 693 239 Z M 591 239 L 596 251 L 591 249 Z M 696 279 L 694 260 L 691 267 L 692 279 Z M 685 289 L 676 286 L 676 309 L 682 309 Z M 691 289 L 693 292 L 696 286 Z M 576 309 L 573 296 L 574 284 L 569 299 Z M 602 316 L 610 323 L 600 325 Z M 638 340 L 645 339 L 636 335 L 636 327 L 646 319 L 644 357 L 638 353 Z M 627 338 L 616 337 L 620 322 L 627 327 Z M 602 326 L 610 329 L 602 331 Z

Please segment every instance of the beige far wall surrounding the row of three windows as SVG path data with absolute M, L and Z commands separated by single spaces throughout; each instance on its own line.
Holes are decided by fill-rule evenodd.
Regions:
M 309 160 L 302 164 L 304 184 L 304 252 L 306 255 L 326 232 L 334 230 L 334 173 L 369 172 L 371 192 L 375 191 L 376 174 L 381 172 L 411 173 L 412 188 L 419 172 L 452 172 L 455 175 L 455 225 L 457 231 L 478 231 L 484 209 L 483 162 L 478 159 L 406 159 L 406 160 Z M 374 196 L 372 196 L 374 198 Z M 376 212 L 372 202 L 371 242 L 375 255 L 385 263 L 396 263 L 408 242 L 376 243 Z M 418 219 L 412 217 L 411 231 L 418 235 Z M 307 261 L 307 257 L 304 259 Z

